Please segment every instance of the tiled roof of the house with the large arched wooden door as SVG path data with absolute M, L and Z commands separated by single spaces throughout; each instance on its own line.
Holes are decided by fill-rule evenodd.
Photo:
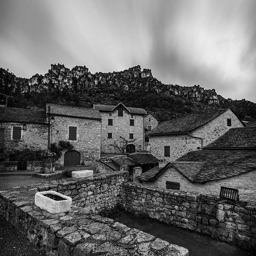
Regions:
M 49 104 L 46 104 L 46 111 L 48 111 L 48 105 Z M 79 108 L 79 107 L 62 106 L 62 105 L 56 105 L 56 104 L 50 104 L 50 106 L 51 106 L 51 113 L 55 115 L 101 120 L 99 110 L 94 108 Z

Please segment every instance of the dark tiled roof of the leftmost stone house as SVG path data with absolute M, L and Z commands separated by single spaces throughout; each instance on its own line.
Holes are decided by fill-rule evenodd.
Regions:
M 26 108 L 1 108 L 0 121 L 20 123 L 46 123 L 44 111 Z

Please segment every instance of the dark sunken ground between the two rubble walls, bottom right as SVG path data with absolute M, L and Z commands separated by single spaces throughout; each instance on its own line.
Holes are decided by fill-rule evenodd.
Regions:
M 152 234 L 170 244 L 177 244 L 187 248 L 189 256 L 254 256 L 255 254 L 231 244 L 220 242 L 195 232 L 176 228 L 154 220 L 144 220 L 127 212 L 120 212 L 109 216 L 114 221 L 125 224 L 129 228 L 136 228 Z

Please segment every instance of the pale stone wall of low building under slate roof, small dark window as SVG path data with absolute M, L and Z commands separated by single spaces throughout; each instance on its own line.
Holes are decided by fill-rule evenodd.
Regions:
M 173 167 L 162 173 L 154 182 L 142 182 L 144 185 L 158 186 L 166 188 L 166 181 L 180 183 L 180 190 L 199 192 L 205 194 L 220 194 L 220 186 L 228 188 L 236 188 L 239 190 L 240 200 L 255 200 L 256 199 L 256 171 L 247 172 L 238 176 L 225 178 L 221 180 L 213 180 L 202 183 L 193 183 L 184 175 L 178 172 Z

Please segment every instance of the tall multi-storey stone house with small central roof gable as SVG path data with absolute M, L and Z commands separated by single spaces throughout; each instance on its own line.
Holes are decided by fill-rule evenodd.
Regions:
M 144 150 L 144 116 L 143 108 L 94 104 L 100 111 L 101 152 L 124 154 Z

